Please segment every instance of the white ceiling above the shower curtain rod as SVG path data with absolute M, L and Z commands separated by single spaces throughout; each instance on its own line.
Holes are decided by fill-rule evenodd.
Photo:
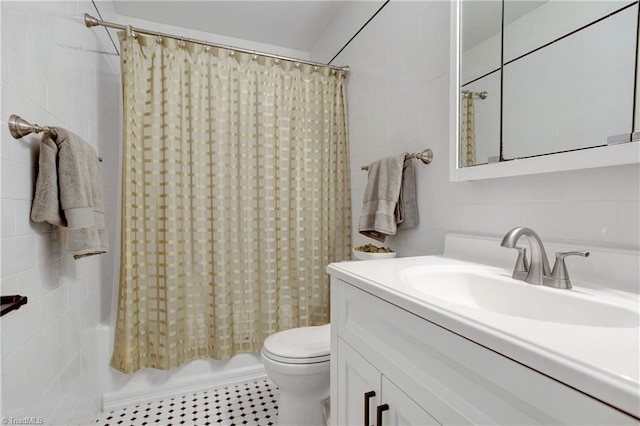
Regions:
M 116 12 L 162 24 L 310 52 L 347 1 L 114 1 Z

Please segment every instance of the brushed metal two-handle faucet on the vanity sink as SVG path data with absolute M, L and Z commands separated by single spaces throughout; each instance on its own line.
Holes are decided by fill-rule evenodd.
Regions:
M 531 249 L 530 263 L 527 263 L 527 250 L 516 246 L 522 236 L 527 237 L 527 241 L 529 241 L 529 247 Z M 533 229 L 524 226 L 513 228 L 507 232 L 500 245 L 518 250 L 518 260 L 516 261 L 512 278 L 525 281 L 529 284 L 545 285 L 561 289 L 571 288 L 571 280 L 569 279 L 564 258 L 567 256 L 589 256 L 588 251 L 556 253 L 556 262 L 553 265 L 553 270 L 551 270 L 542 240 Z

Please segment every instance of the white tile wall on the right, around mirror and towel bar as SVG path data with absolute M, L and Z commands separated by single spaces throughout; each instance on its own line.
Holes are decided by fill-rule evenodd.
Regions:
M 416 162 L 420 226 L 387 239 L 401 255 L 441 253 L 446 232 L 503 235 L 516 225 L 543 239 L 639 248 L 638 165 L 449 182 L 449 25 L 447 1 L 393 0 L 334 61 L 351 67 L 354 245 L 372 242 L 357 232 L 360 166 L 428 147 L 433 163 Z

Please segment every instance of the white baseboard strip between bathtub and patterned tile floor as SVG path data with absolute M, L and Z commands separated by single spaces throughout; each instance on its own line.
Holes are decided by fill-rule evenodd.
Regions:
M 212 373 L 210 375 L 197 376 L 186 379 L 180 383 L 168 383 L 154 386 L 150 391 L 148 387 L 144 389 L 133 389 L 127 391 L 109 392 L 102 395 L 102 411 L 113 411 L 129 405 L 143 404 L 149 401 L 171 398 L 185 393 L 197 393 L 209 389 L 219 389 L 228 386 L 235 386 L 254 380 L 261 380 L 267 377 L 267 373 L 262 365 L 238 368 L 224 373 Z

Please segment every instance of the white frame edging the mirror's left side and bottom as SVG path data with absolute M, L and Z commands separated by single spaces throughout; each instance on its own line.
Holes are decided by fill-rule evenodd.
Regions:
M 595 167 L 640 163 L 640 142 L 585 148 L 539 157 L 460 167 L 460 10 L 462 0 L 451 1 L 450 95 L 449 95 L 449 180 L 464 182 L 508 176 L 561 172 Z

